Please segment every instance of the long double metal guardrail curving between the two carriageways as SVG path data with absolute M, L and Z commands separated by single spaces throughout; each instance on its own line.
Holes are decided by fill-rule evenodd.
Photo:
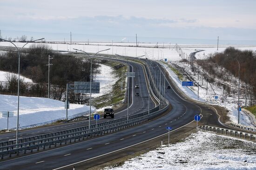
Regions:
M 151 109 L 151 110 L 154 110 L 154 109 Z M 168 105 L 163 109 L 152 112 L 150 114 L 148 114 L 148 112 L 146 113 L 143 112 L 143 113 L 129 116 L 129 120 L 127 120 L 127 118 L 121 118 L 118 120 L 122 120 L 122 121 L 113 120 L 115 121 L 115 123 L 102 122 L 101 124 L 98 124 L 97 127 L 96 125 L 92 125 L 93 128 L 91 129 L 88 129 L 87 128 L 88 126 L 84 126 L 84 127 L 66 130 L 66 131 L 48 133 L 48 134 L 43 134 L 36 137 L 20 139 L 19 140 L 20 143 L 18 144 L 1 146 L 0 156 L 1 156 L 1 159 L 3 159 L 5 155 L 8 155 L 9 157 L 11 157 L 12 154 L 19 155 L 20 152 L 26 154 L 27 150 L 30 150 L 31 152 L 33 152 L 34 149 L 36 149 L 37 151 L 39 151 L 40 149 L 46 149 L 46 147 L 51 148 L 51 145 L 54 145 L 56 147 L 56 145 L 62 145 L 63 142 L 67 144 L 67 142 L 72 143 L 72 142 L 76 142 L 76 140 L 80 141 L 81 139 L 85 139 L 88 137 L 104 135 L 108 132 L 115 132 L 124 128 L 128 128 L 130 126 L 141 124 L 150 119 L 153 119 L 159 114 L 165 112 L 167 109 L 168 109 Z M 29 139 L 29 141 L 27 141 L 27 139 Z M 14 142 L 12 141 L 12 143 Z

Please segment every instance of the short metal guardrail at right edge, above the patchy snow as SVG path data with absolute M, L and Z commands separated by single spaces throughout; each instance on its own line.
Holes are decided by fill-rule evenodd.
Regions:
M 215 127 L 215 126 L 198 126 L 200 129 L 209 131 L 209 132 L 216 132 L 224 135 L 229 135 L 229 136 L 234 136 L 237 138 L 243 138 L 247 140 L 251 140 L 256 142 L 256 134 L 251 134 L 251 133 L 246 133 L 246 132 L 240 132 L 240 131 L 235 131 L 235 130 L 230 130 L 230 129 L 225 129 L 225 128 L 220 128 L 220 127 Z

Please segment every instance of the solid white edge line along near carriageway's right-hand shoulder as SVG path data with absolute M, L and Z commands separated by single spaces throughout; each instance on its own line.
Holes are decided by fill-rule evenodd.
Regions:
M 193 120 L 193 121 L 195 121 L 195 120 Z M 173 131 L 171 131 L 171 132 L 174 132 L 174 131 L 176 131 L 176 130 L 178 130 L 178 129 L 184 127 L 184 126 L 187 126 L 187 125 L 189 125 L 190 123 L 192 123 L 193 121 L 189 122 L 189 123 L 186 124 L 186 125 L 183 125 L 183 126 L 177 128 L 177 129 L 175 129 L 175 130 L 173 130 Z M 157 137 L 154 137 L 154 138 L 151 138 L 151 139 L 142 141 L 142 142 L 140 142 L 140 143 L 134 144 L 134 145 L 130 145 L 130 146 L 127 146 L 127 147 L 124 147 L 124 148 L 121 148 L 121 149 L 118 149 L 118 150 L 115 150 L 115 151 L 111 151 L 111 152 L 108 152 L 108 153 L 105 153 L 105 154 L 102 154 L 102 155 L 99 155 L 99 156 L 96 156 L 96 157 L 92 157 L 92 158 L 89 158 L 89 159 L 86 159 L 86 160 L 83 160 L 83 161 L 79 161 L 79 162 L 76 162 L 76 163 L 74 163 L 74 164 L 69 164 L 69 165 L 66 165 L 66 166 L 62 166 L 62 167 L 60 167 L 60 168 L 56 168 L 56 169 L 53 169 L 53 170 L 59 170 L 59 169 L 61 169 L 61 168 L 66 168 L 66 167 L 68 167 L 68 166 L 72 166 L 72 165 L 75 165 L 75 164 L 79 164 L 79 163 L 82 163 L 82 162 L 86 162 L 86 161 L 89 161 L 89 160 L 91 160 L 91 159 L 95 159 L 95 158 L 97 158 L 97 157 L 102 157 L 102 156 L 105 156 L 105 155 L 108 155 L 108 154 L 111 154 L 111 153 L 114 153 L 114 152 L 117 152 L 117 151 L 121 151 L 121 150 L 130 148 L 130 147 L 133 147 L 133 146 L 135 146 L 135 145 L 139 145 L 139 144 L 148 142 L 149 140 L 159 138 L 159 137 L 164 136 L 164 135 L 167 135 L 167 134 L 168 134 L 168 132 L 167 132 L 167 133 L 164 133 L 164 134 L 162 134 L 162 135 L 159 135 L 159 136 L 157 136 Z

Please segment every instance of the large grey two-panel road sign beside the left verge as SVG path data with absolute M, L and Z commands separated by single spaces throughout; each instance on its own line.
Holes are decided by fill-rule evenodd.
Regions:
M 91 83 L 91 93 L 100 93 L 100 82 Z M 90 93 L 90 82 L 74 82 L 74 93 Z

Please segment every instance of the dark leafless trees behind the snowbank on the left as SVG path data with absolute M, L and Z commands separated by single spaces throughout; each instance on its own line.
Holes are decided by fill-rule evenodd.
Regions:
M 74 81 L 90 81 L 90 60 L 88 58 L 74 57 L 69 54 L 53 52 L 46 44 L 33 44 L 20 55 L 20 74 L 33 80 L 26 83 L 20 80 L 20 94 L 24 96 L 47 96 L 48 83 L 48 56 L 53 65 L 50 66 L 51 98 L 63 100 L 66 84 Z M 98 73 L 96 60 L 93 60 L 93 75 Z M 18 73 L 18 53 L 7 51 L 0 55 L 0 70 Z M 93 78 L 93 77 L 92 77 Z M 1 94 L 16 94 L 18 78 L 14 75 L 7 77 L 7 82 L 0 83 Z M 73 98 L 74 100 L 75 95 Z M 79 98 L 79 102 L 80 98 Z

